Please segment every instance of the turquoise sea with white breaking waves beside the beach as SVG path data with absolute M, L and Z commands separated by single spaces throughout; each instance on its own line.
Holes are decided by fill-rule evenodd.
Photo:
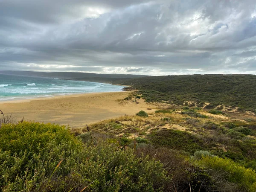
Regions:
M 122 91 L 122 88 L 105 83 L 0 74 L 0 101 L 73 93 L 116 92 Z

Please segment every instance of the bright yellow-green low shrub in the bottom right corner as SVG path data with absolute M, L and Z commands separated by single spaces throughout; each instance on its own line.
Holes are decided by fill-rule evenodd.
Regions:
M 256 173 L 253 170 L 246 169 L 232 160 L 219 157 L 205 156 L 198 162 L 206 169 L 225 172 L 226 179 L 229 182 L 237 183 L 241 191 L 256 191 Z

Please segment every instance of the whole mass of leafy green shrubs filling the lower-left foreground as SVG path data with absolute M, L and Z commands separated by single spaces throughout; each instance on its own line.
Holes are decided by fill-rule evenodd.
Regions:
M 1 191 L 161 191 L 163 165 L 115 145 L 82 145 L 64 127 L 23 122 L 0 129 Z

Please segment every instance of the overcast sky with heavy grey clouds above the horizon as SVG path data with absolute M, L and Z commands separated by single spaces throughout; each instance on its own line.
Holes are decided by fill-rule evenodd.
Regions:
M 256 74 L 256 3 L 0 0 L 0 70 Z

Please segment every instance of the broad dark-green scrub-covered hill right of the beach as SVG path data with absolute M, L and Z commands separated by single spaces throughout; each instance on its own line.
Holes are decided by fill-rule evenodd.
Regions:
M 209 102 L 214 106 L 227 105 L 240 110 L 256 110 L 255 75 L 182 75 L 149 76 L 114 81 L 132 85 L 126 90 L 140 90 L 147 102 L 169 102 L 183 105 Z

